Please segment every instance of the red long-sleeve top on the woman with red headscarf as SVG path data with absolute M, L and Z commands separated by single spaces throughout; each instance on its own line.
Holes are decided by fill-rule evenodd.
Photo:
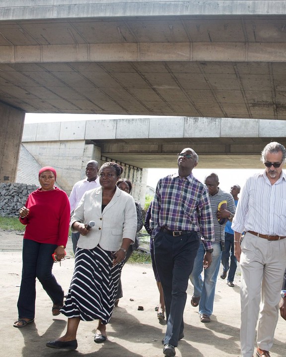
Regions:
M 38 188 L 29 194 L 25 207 L 29 214 L 20 218 L 20 222 L 26 225 L 24 239 L 67 245 L 71 210 L 65 191 L 58 187 L 50 191 Z

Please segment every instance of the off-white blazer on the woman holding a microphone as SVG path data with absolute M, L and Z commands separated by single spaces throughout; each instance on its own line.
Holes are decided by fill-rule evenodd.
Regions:
M 98 244 L 104 250 L 117 251 L 123 238 L 134 241 L 137 230 L 137 212 L 133 197 L 116 186 L 114 196 L 101 212 L 102 187 L 86 191 L 71 217 L 74 222 L 88 224 L 95 221 L 86 236 L 79 236 L 77 246 L 92 249 Z M 71 228 L 73 233 L 76 233 Z

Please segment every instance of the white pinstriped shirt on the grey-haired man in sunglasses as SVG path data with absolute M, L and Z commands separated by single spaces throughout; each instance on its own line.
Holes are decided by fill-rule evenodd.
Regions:
M 271 185 L 266 172 L 247 179 L 231 228 L 263 235 L 286 236 L 286 175 Z

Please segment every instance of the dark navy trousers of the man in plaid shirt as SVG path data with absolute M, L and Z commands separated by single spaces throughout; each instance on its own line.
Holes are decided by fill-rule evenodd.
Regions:
M 154 238 L 155 262 L 164 292 L 167 317 L 164 345 L 178 346 L 179 336 L 183 333 L 186 291 L 199 245 L 196 232 L 173 237 L 160 231 Z

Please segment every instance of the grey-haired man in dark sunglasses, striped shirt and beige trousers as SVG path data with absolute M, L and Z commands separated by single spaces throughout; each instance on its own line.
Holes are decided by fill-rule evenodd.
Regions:
M 265 171 L 247 179 L 231 226 L 242 273 L 242 357 L 253 356 L 257 320 L 256 357 L 270 357 L 286 267 L 286 149 L 271 142 L 261 155 Z

